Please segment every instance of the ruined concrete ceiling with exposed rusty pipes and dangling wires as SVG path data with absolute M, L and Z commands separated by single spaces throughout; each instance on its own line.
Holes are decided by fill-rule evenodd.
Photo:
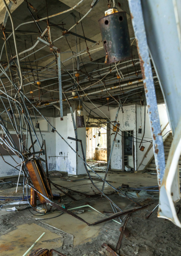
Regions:
M 52 42 L 61 53 L 63 103 L 66 103 L 66 95 L 71 101 L 91 100 L 94 104 L 115 107 L 117 102 L 110 96 L 111 93 L 122 104 L 141 104 L 145 97 L 144 86 L 128 2 L 118 2 L 116 6 L 119 11 L 126 11 L 132 55 L 131 58 L 119 62 L 117 68 L 122 73 L 121 77 L 114 63 L 104 64 L 105 52 L 98 20 L 104 16 L 108 1 L 95 1 L 96 6 L 93 8 L 90 7 L 90 1 L 82 2 L 78 6 L 76 1 L 59 0 L 51 3 L 41 0 L 31 1 L 31 4 L 27 1 L 10 4 L 25 95 L 36 106 L 41 107 L 48 105 L 48 108 L 52 108 L 59 101 L 56 50 L 45 45 L 45 42 Z M 5 7 L 2 5 L 1 21 L 3 14 Z M 47 28 L 47 22 L 50 29 L 42 36 L 44 42 L 38 41 L 37 37 L 41 37 Z M 19 74 L 14 62 L 16 52 L 10 18 L 6 18 L 3 24 L 0 61 L 17 83 Z M 8 66 L 11 67 L 9 71 Z M 162 103 L 163 97 L 153 65 L 152 72 L 157 100 Z M 10 81 L 6 77 L 1 79 L 9 91 Z M 12 95 L 15 95 L 13 90 Z

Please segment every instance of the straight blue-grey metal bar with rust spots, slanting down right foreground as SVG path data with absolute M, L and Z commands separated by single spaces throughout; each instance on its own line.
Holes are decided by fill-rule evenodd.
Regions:
M 146 40 L 145 25 L 140 0 L 129 0 L 129 9 L 133 23 L 136 45 L 140 59 L 141 72 L 145 89 L 148 115 L 151 127 L 151 137 L 153 141 L 155 164 L 157 170 L 157 180 L 161 186 L 165 173 L 165 153 L 161 134 L 160 119 L 157 108 L 155 86 L 152 76 L 149 48 Z

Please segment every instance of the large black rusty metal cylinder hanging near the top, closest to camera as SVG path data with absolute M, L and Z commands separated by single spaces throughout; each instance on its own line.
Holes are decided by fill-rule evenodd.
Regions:
M 106 53 L 105 64 L 131 57 L 126 12 L 118 12 L 115 8 L 109 9 L 99 20 L 99 25 Z

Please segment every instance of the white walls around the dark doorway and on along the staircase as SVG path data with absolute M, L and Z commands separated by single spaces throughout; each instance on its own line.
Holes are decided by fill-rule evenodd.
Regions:
M 145 113 L 145 135 L 143 140 L 143 146 L 145 147 L 144 151 L 141 151 L 139 148 L 141 138 L 144 132 L 144 106 L 140 105 L 131 105 L 131 106 L 124 106 L 123 107 L 124 113 L 119 112 L 118 114 L 118 121 L 120 123 L 120 131 L 119 134 L 121 134 L 121 131 L 123 130 L 134 130 L 134 145 L 135 145 L 135 170 L 143 170 L 145 166 L 149 163 L 151 158 L 154 155 L 153 148 L 150 149 L 148 154 L 146 155 L 146 158 L 144 158 L 144 155 L 146 151 L 148 150 L 151 143 L 144 142 L 144 140 L 152 140 L 151 139 L 151 128 L 149 123 L 149 116 L 148 116 L 148 107 L 146 106 L 146 113 Z M 169 122 L 165 104 L 159 104 L 158 105 L 158 111 L 159 111 L 159 118 L 160 118 L 160 125 L 161 130 L 164 129 L 166 124 Z M 115 114 L 117 112 L 117 109 L 110 111 L 110 116 L 112 118 L 112 121 L 115 117 Z M 113 128 L 111 126 L 111 128 Z M 142 134 L 138 133 L 138 129 L 142 129 Z M 167 127 L 163 130 L 162 135 L 165 135 L 169 130 L 171 130 L 170 125 L 168 124 Z M 111 145 L 114 139 L 114 132 L 111 130 Z M 111 158 L 111 169 L 121 170 L 122 169 L 122 147 L 121 147 L 121 135 L 117 134 L 116 140 L 120 140 L 120 143 L 115 143 L 113 154 Z M 167 137 L 168 133 L 163 137 L 165 139 Z M 136 138 L 137 136 L 137 138 Z M 117 144 L 117 147 L 116 147 Z M 118 147 L 119 144 L 119 147 Z M 142 145 L 142 144 L 141 144 Z M 143 163 L 140 165 L 142 159 L 144 158 Z M 133 168 L 133 157 L 129 157 L 129 165 L 131 168 Z

